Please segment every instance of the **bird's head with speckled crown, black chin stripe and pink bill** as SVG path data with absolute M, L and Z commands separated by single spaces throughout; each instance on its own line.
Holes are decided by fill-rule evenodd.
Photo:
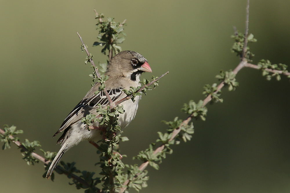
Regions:
M 134 51 L 122 51 L 108 63 L 108 76 L 126 77 L 138 81 L 142 72 L 152 72 L 146 58 Z

